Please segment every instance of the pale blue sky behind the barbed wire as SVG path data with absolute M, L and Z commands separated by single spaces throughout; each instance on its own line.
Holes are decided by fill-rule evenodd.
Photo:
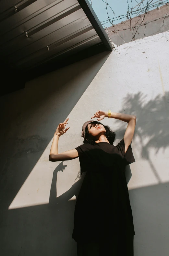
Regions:
M 104 1 L 106 1 L 106 0 L 104 0 Z M 94 9 L 94 11 L 95 11 L 97 17 L 99 18 L 99 20 L 101 22 L 107 20 L 107 12 L 106 12 L 106 8 L 105 8 L 105 3 L 102 0 L 90 0 L 89 2 L 91 3 L 91 6 Z M 137 0 L 137 1 L 136 0 L 128 0 L 128 4 L 127 4 L 127 0 L 107 0 L 107 3 L 110 5 L 110 7 L 115 12 L 115 17 L 118 16 L 118 15 L 125 15 L 125 14 L 127 14 L 128 5 L 129 5 L 129 8 L 130 8 L 129 10 L 131 10 L 132 4 L 133 4 L 133 8 L 134 8 L 140 2 L 141 2 L 141 0 Z M 151 0 L 149 0 L 149 3 L 150 2 L 151 2 Z M 161 2 L 163 3 L 162 5 L 164 5 L 168 1 L 153 0 L 151 2 L 151 4 L 159 5 L 159 3 L 161 3 Z M 147 3 L 147 0 L 143 0 L 143 2 L 140 5 L 140 7 L 144 7 L 146 5 L 146 3 Z M 136 7 L 135 10 L 138 7 Z M 113 18 L 112 10 L 108 6 L 107 6 L 107 8 L 108 8 L 108 14 L 109 14 L 110 18 Z M 155 7 L 152 6 L 149 10 L 154 9 L 154 8 L 157 8 L 157 6 L 155 6 Z M 140 12 L 140 14 L 141 14 L 141 12 Z M 133 17 L 134 16 L 138 16 L 138 15 L 139 15 L 139 13 L 137 15 L 133 15 Z M 124 17 L 124 18 L 122 18 L 120 20 L 116 20 L 113 23 L 117 24 L 117 23 L 120 23 L 121 21 L 125 21 L 125 20 L 127 20 L 126 17 Z M 110 27 L 111 23 L 108 22 L 108 23 L 105 23 L 104 25 L 107 26 L 107 27 Z

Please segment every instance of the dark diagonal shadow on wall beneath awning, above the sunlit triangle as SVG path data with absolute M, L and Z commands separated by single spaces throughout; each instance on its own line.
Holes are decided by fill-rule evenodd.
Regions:
M 1 98 L 1 207 L 7 209 L 110 53 L 59 69 Z M 79 84 L 81 81 L 81 84 Z

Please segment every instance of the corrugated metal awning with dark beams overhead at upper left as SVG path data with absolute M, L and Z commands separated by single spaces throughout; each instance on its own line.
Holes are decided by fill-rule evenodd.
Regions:
M 1 1 L 1 63 L 28 80 L 103 50 L 112 46 L 87 0 Z

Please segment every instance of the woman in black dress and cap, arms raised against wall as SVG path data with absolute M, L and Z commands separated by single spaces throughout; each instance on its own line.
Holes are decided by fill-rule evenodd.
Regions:
M 104 117 L 127 122 L 124 138 L 114 146 L 115 132 L 99 121 Z M 75 206 L 72 238 L 78 256 L 133 256 L 135 235 L 125 166 L 135 162 L 131 142 L 136 116 L 98 110 L 82 127 L 83 144 L 58 153 L 58 140 L 68 118 L 55 131 L 50 161 L 79 157 L 81 173 L 86 172 Z

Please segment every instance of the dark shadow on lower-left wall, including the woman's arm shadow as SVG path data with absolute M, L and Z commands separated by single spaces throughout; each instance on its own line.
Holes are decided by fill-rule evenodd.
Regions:
M 53 173 L 49 204 L 8 210 L 1 226 L 3 256 L 76 255 L 76 242 L 71 239 L 74 226 L 75 200 L 82 179 L 57 197 L 57 173 L 65 170 L 63 161 Z M 6 229 L 8 226 L 8 229 Z

